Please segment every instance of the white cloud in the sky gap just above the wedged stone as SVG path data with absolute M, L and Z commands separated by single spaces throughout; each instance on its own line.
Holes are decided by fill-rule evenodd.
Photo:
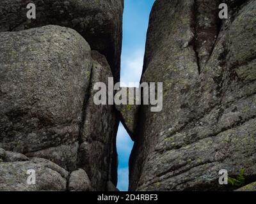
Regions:
M 144 52 L 136 50 L 122 57 L 121 85 L 126 87 L 139 86 L 143 67 Z M 130 84 L 129 84 L 130 83 Z M 132 84 L 131 84 L 132 83 Z

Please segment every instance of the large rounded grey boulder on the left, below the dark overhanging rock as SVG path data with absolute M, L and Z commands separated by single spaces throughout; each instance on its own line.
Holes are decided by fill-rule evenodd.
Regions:
M 90 46 L 54 25 L 0 39 L 0 147 L 75 168 Z

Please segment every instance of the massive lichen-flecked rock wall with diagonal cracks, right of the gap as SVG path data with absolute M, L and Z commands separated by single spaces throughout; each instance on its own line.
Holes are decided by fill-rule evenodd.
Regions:
M 163 110 L 140 108 L 130 190 L 228 190 L 221 169 L 255 179 L 256 1 L 229 8 L 220 20 L 218 1 L 154 4 L 141 82 L 163 82 Z

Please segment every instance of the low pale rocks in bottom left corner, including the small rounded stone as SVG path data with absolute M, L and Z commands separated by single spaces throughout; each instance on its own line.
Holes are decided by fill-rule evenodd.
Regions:
M 29 158 L 0 149 L 0 191 L 91 190 L 90 179 L 84 170 L 72 171 L 69 175 L 47 159 Z

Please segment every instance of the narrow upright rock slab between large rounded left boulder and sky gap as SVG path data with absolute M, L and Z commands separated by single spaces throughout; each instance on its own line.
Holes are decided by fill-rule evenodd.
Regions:
M 108 180 L 116 184 L 116 132 L 118 117 L 114 105 L 95 105 L 93 90 L 95 83 L 104 82 L 108 90 L 111 69 L 103 55 L 92 51 L 93 66 L 90 80 L 89 99 L 84 110 L 81 145 L 78 165 L 83 168 L 97 191 L 104 191 Z M 108 94 L 106 95 L 108 98 Z

